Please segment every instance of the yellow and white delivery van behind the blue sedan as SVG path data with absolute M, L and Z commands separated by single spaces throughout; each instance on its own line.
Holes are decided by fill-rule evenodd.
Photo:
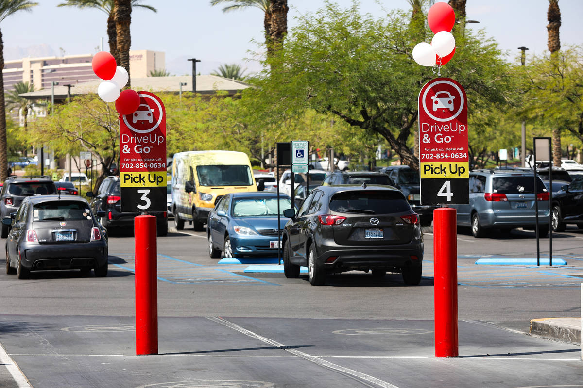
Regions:
M 184 229 L 184 222 L 188 221 L 194 230 L 201 232 L 209 212 L 223 195 L 257 190 L 251 162 L 244 152 L 187 151 L 174 154 L 171 207 L 178 230 Z

